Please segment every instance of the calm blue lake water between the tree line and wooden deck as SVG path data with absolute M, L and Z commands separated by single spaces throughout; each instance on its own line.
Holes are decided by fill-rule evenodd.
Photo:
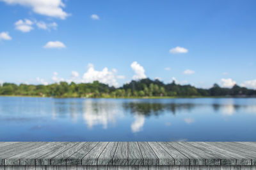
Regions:
M 0 97 L 0 141 L 256 141 L 256 99 Z

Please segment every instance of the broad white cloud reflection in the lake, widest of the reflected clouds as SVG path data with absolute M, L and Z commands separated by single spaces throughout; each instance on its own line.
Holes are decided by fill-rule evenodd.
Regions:
M 83 118 L 88 128 L 94 125 L 103 125 L 104 129 L 108 128 L 108 122 L 116 122 L 118 111 L 116 104 L 108 101 L 95 101 L 86 99 L 83 103 Z

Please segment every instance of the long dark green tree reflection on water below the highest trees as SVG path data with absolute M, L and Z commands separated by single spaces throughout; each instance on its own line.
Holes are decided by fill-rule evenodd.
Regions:
M 149 117 L 150 115 L 161 115 L 164 111 L 170 111 L 173 115 L 178 110 L 191 111 L 196 104 L 192 103 L 124 103 L 124 110 L 132 114 L 141 114 Z

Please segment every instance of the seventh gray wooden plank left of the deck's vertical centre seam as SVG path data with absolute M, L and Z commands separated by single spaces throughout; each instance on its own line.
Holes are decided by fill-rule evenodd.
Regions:
M 41 150 L 38 153 L 31 153 L 26 157 L 22 157 L 20 159 L 20 165 L 36 165 L 36 158 L 42 157 L 43 155 L 46 155 L 49 152 L 54 152 L 54 150 L 57 150 L 58 148 L 61 148 L 64 145 L 67 145 L 67 142 L 58 142 L 56 143 L 56 145 L 49 146 L 48 148 L 45 148 L 44 150 Z

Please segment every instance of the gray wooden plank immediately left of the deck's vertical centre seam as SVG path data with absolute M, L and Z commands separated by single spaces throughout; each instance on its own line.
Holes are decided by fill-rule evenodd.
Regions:
M 118 142 L 115 155 L 113 157 L 113 165 L 128 165 L 128 143 Z

